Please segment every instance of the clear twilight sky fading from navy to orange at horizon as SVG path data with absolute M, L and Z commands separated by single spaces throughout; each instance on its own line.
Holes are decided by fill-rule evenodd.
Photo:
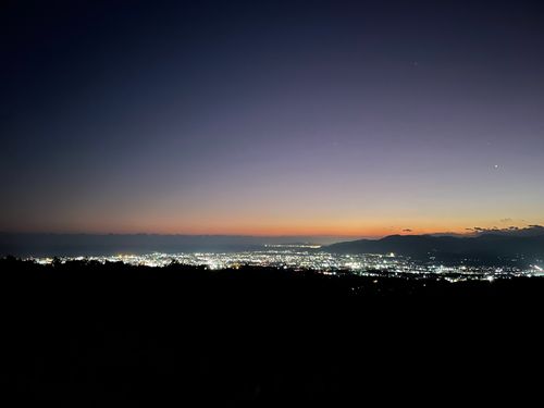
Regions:
M 542 1 L 13 1 L 0 26 L 0 231 L 544 223 Z

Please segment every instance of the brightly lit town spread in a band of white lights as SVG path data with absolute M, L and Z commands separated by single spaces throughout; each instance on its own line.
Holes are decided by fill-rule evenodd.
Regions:
M 205 267 L 210 270 L 238 269 L 242 267 L 263 267 L 288 269 L 295 271 L 317 271 L 323 274 L 353 273 L 366 276 L 400 276 L 407 279 L 440 279 L 448 282 L 467 280 L 510 279 L 515 276 L 544 275 L 542 267 L 530 265 L 527 269 L 518 267 L 489 265 L 445 265 L 433 259 L 428 262 L 415 261 L 407 257 L 388 255 L 338 255 L 325 251 L 311 251 L 316 246 L 267 246 L 263 250 L 238 252 L 151 252 L 144 255 L 119 254 L 95 257 L 60 257 L 66 261 L 124 262 L 131 265 L 168 267 L 178 263 L 193 267 Z M 37 263 L 48 264 L 53 258 L 28 258 Z

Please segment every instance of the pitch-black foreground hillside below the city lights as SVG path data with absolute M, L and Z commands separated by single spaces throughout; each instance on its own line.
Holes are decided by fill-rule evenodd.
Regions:
M 0 265 L 3 406 L 520 404 L 542 390 L 540 279 Z

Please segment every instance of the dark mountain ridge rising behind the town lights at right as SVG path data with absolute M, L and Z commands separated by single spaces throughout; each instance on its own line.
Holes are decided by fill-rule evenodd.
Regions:
M 382 239 L 359 239 L 322 248 L 334 254 L 394 252 L 419 260 L 526 265 L 544 259 L 544 228 L 497 230 L 477 236 L 391 235 Z

